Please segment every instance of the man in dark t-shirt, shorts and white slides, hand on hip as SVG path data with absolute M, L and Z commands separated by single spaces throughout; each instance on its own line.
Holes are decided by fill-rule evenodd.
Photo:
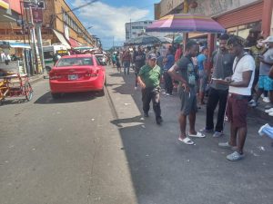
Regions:
M 189 137 L 203 138 L 204 134 L 196 131 L 196 113 L 197 113 L 197 61 L 193 61 L 198 53 L 198 45 L 194 41 L 186 44 L 185 56 L 172 66 L 168 73 L 179 82 L 179 95 L 181 99 L 181 112 L 179 116 L 180 136 L 179 141 L 185 144 L 194 144 Z M 177 73 L 179 72 L 179 73 Z M 189 120 L 189 131 L 186 133 L 187 116 Z

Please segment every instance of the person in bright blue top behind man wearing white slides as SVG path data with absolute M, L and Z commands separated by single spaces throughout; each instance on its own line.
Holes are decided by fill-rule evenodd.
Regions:
M 207 68 L 207 47 L 203 47 L 201 53 L 197 56 L 198 62 L 198 95 L 199 95 L 199 104 L 204 105 L 205 92 L 207 87 L 207 78 L 208 78 L 208 68 Z

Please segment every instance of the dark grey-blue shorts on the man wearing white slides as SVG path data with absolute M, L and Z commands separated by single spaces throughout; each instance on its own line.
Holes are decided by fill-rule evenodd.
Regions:
M 190 88 L 190 92 L 185 92 L 179 87 L 179 96 L 181 100 L 181 113 L 189 115 L 190 112 L 197 112 L 197 92 L 195 88 Z

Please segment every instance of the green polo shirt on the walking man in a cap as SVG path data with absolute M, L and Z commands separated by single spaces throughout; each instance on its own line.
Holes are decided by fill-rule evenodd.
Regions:
M 138 76 L 146 84 L 147 88 L 157 88 L 160 84 L 161 69 L 158 65 L 154 68 L 144 65 L 141 67 Z

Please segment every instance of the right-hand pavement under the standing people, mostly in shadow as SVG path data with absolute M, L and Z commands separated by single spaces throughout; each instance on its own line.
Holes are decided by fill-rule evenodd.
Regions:
M 115 108 L 116 125 L 130 169 L 139 204 L 233 203 L 270 204 L 273 199 L 271 140 L 259 137 L 258 129 L 266 121 L 252 113 L 248 117 L 246 158 L 231 162 L 231 151 L 217 147 L 225 136 L 193 139 L 197 145 L 179 143 L 177 96 L 161 94 L 163 124 L 158 126 L 152 107 L 143 118 L 141 92 L 134 90 L 133 72 L 117 73 L 106 67 L 107 90 Z M 206 108 L 197 112 L 197 130 L 205 125 Z M 255 193 L 255 196 L 253 196 Z

